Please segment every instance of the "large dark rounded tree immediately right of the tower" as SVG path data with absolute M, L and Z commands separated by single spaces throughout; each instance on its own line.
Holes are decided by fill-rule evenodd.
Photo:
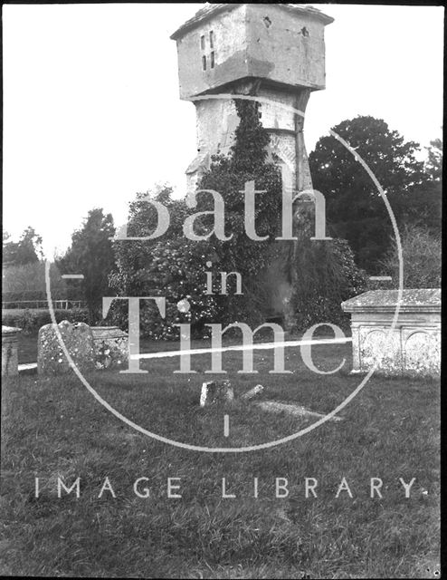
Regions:
M 402 198 L 429 178 L 416 160 L 419 145 L 404 141 L 383 120 L 359 116 L 339 123 L 335 131 L 356 150 L 378 179 L 402 222 Z M 309 155 L 315 189 L 327 200 L 330 235 L 347 239 L 357 264 L 375 272 L 390 244 L 392 225 L 384 201 L 356 157 L 332 136 L 322 137 Z

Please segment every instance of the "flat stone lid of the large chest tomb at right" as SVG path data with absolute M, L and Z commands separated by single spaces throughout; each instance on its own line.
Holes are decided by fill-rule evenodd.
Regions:
M 351 298 L 342 304 L 346 312 L 370 310 L 394 310 L 397 304 L 397 290 L 370 290 Z M 440 288 L 405 289 L 402 293 L 401 308 L 404 310 L 441 309 Z

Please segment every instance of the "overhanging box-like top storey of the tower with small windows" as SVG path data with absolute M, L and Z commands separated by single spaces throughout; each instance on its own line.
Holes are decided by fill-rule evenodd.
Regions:
M 180 97 L 217 92 L 247 78 L 324 89 L 324 28 L 331 22 L 312 6 L 205 6 L 171 36 L 177 43 Z

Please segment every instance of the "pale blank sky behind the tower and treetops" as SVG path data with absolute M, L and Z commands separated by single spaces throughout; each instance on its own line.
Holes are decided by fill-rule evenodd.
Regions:
M 340 121 L 384 119 L 422 147 L 442 137 L 443 8 L 319 5 L 326 90 L 308 151 Z M 61 254 L 91 208 L 116 224 L 137 192 L 185 194 L 195 107 L 178 95 L 169 36 L 200 4 L 4 5 L 4 229 Z M 424 156 L 424 150 L 421 159 Z

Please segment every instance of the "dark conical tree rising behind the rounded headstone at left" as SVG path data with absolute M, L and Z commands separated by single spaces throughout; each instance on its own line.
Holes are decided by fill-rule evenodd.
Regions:
M 81 229 L 71 236 L 71 247 L 57 261 L 62 274 L 82 274 L 90 324 L 101 318 L 102 297 L 109 292 L 109 273 L 115 259 L 110 237 L 115 235 L 111 214 L 102 208 L 89 211 Z

